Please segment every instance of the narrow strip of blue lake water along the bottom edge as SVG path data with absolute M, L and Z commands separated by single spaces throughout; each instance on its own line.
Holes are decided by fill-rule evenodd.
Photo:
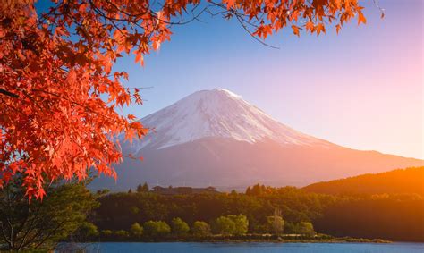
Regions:
M 86 252 L 228 252 L 228 253 L 256 253 L 256 252 L 367 252 L 367 253 L 399 253 L 424 252 L 424 243 L 191 243 L 191 242 L 102 242 L 80 244 Z

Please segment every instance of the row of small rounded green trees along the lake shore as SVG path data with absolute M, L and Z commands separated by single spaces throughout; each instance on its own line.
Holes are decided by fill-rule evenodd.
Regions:
M 275 223 L 275 220 L 278 222 Z M 268 217 L 268 235 L 283 235 L 284 220 L 281 216 Z M 316 232 L 312 223 L 296 223 L 290 228 L 296 236 L 313 238 Z M 84 223 L 78 233 L 83 240 L 164 240 L 164 239 L 204 239 L 216 236 L 244 236 L 249 232 L 249 220 L 245 215 L 219 216 L 211 224 L 196 221 L 189 225 L 181 218 L 173 218 L 171 223 L 164 221 L 148 221 L 133 223 L 128 230 L 98 230 L 93 223 Z M 272 233 L 271 233 L 272 232 Z

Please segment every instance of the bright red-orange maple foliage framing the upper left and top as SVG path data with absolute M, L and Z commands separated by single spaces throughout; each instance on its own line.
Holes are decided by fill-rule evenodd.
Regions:
M 143 55 L 169 40 L 174 25 L 202 13 L 234 18 L 254 38 L 289 27 L 317 35 L 340 30 L 357 0 L 63 0 L 38 13 L 33 0 L 0 5 L 0 187 L 23 175 L 29 198 L 49 181 L 84 179 L 89 169 L 116 177 L 123 160 L 117 135 L 141 138 L 135 116 L 116 112 L 141 104 L 112 67 L 123 54 Z

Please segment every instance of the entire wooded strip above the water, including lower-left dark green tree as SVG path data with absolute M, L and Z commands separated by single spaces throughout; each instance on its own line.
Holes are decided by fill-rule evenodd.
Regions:
M 393 173 L 402 177 L 422 170 Z M 386 174 L 376 177 L 386 181 Z M 52 183 L 43 201 L 29 202 L 22 180 L 15 178 L 0 190 L 2 250 L 48 250 L 59 241 L 99 240 L 424 241 L 420 191 L 375 194 L 373 186 L 370 193 L 324 194 L 310 187 L 256 184 L 244 192 L 163 194 L 144 183 L 127 192 L 92 192 L 89 181 L 71 181 Z M 422 186 L 422 178 L 414 183 Z

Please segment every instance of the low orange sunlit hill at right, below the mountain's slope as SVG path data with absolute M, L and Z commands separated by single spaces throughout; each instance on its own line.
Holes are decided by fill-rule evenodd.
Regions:
M 419 194 L 424 197 L 424 167 L 398 169 L 324 181 L 303 188 L 326 194 Z

